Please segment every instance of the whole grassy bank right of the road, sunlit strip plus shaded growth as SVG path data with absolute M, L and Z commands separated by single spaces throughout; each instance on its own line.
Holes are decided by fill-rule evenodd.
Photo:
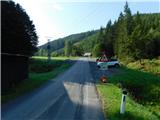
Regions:
M 109 76 L 109 84 L 98 85 L 104 111 L 112 120 L 160 119 L 160 77 L 140 70 L 119 68 L 121 74 Z M 119 114 L 121 89 L 127 89 L 127 114 Z

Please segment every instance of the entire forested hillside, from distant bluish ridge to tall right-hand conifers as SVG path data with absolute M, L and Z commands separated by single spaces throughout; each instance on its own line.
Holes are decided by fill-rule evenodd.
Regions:
M 160 56 L 160 13 L 141 14 L 137 11 L 132 15 L 126 3 L 114 23 L 109 20 L 100 30 L 70 35 L 52 41 L 51 46 L 53 56 L 79 56 L 84 52 L 101 56 L 105 52 L 108 57 L 127 60 L 155 58 Z M 47 44 L 41 46 L 39 54 L 47 55 L 46 49 Z

